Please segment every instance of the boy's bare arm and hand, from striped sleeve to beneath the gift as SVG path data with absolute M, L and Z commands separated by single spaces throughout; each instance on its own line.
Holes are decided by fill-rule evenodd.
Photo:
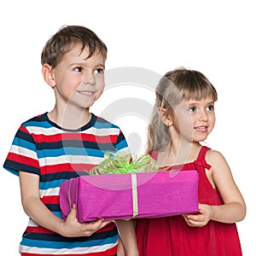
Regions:
M 36 174 L 20 172 L 21 202 L 26 214 L 39 225 L 53 230 L 61 236 L 90 236 L 100 230 L 108 222 L 99 219 L 95 223 L 80 224 L 76 218 L 76 208 L 73 207 L 66 221 L 55 216 L 39 198 L 39 177 Z

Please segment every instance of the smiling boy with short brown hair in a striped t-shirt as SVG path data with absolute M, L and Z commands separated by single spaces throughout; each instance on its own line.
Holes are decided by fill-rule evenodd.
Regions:
M 116 255 L 118 231 L 99 219 L 80 224 L 73 206 L 61 219 L 61 183 L 90 171 L 106 151 L 127 150 L 119 127 L 90 113 L 102 95 L 107 47 L 84 26 L 64 26 L 45 44 L 44 81 L 55 107 L 17 131 L 3 167 L 20 177 L 22 206 L 30 217 L 20 242 L 27 255 Z

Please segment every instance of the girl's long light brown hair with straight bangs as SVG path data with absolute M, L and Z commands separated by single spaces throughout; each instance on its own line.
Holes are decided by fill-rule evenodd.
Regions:
M 211 96 L 213 102 L 218 99 L 217 91 L 207 77 L 195 70 L 183 67 L 166 73 L 155 89 L 155 103 L 148 125 L 146 152 L 159 151 L 170 143 L 170 132 L 162 121 L 159 108 L 165 108 L 172 116 L 175 108 L 183 100 L 201 100 Z

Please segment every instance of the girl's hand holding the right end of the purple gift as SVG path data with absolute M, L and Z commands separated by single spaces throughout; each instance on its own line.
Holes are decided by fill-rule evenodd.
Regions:
M 202 227 L 206 225 L 212 216 L 212 207 L 199 204 L 195 214 L 183 214 L 183 218 L 190 227 Z

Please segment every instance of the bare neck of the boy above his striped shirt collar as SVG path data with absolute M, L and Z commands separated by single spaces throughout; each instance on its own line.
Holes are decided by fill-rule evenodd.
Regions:
M 56 125 L 61 126 L 61 128 L 78 130 L 89 123 L 91 113 L 89 112 L 89 108 L 81 108 L 79 110 L 66 108 L 65 111 L 54 108 L 48 113 L 48 118 Z

